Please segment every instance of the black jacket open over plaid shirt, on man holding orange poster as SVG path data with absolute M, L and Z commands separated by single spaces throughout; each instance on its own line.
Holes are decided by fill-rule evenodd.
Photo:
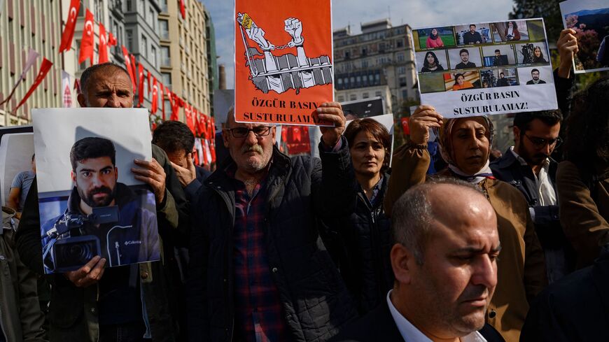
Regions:
M 235 192 L 225 171 L 233 164 L 225 159 L 191 204 L 196 226 L 188 271 L 190 341 L 234 339 Z M 338 152 L 322 151 L 321 162 L 290 158 L 274 148 L 265 187 L 268 271 L 279 290 L 290 341 L 325 341 L 357 316 L 316 225 L 318 215 L 345 215 L 355 207 L 346 139 Z

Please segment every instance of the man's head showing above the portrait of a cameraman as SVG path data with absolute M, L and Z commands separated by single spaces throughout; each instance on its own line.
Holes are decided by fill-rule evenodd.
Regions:
M 111 62 L 90 66 L 80 76 L 81 107 L 131 108 L 133 87 L 129 72 Z

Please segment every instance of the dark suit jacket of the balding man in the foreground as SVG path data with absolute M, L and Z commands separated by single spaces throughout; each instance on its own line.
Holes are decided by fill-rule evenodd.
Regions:
M 488 342 L 505 342 L 503 337 L 490 325 L 486 324 L 479 333 Z M 386 298 L 383 303 L 367 313 L 363 318 L 341 329 L 340 334 L 330 342 L 409 342 L 404 341 L 398 326 L 395 325 Z

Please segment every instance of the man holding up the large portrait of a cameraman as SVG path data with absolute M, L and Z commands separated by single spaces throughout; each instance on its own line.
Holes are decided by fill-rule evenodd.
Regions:
M 112 63 L 87 68 L 80 76 L 81 107 L 131 108 L 130 76 Z M 177 236 L 188 233 L 188 202 L 167 155 L 152 145 L 153 160 L 136 159 L 134 177 L 151 186 L 157 204 L 162 262 L 146 262 L 104 269 L 106 260 L 94 257 L 76 271 L 52 274 L 50 341 L 174 341 L 179 325 L 174 317 L 174 293 L 168 291 L 169 269 L 175 264 L 172 251 Z M 22 261 L 42 273 L 38 190 L 32 184 L 17 234 Z M 186 226 L 186 227 L 185 227 Z M 183 231 L 183 232 L 182 232 Z M 181 232 L 181 234 L 179 234 Z M 182 241 L 183 242 L 183 241 Z M 163 256 L 165 255 L 165 257 Z M 174 280 L 175 281 L 175 280 Z

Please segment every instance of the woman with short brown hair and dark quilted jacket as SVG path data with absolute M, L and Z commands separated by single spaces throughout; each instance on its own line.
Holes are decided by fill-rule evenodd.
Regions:
M 352 213 L 324 223 L 329 234 L 338 236 L 342 243 L 339 252 L 332 254 L 339 254 L 340 274 L 356 299 L 359 313 L 364 314 L 381 304 L 393 287 L 391 221 L 383 210 L 391 140 L 387 129 L 370 118 L 351 122 L 344 137 L 358 180 L 357 205 Z

